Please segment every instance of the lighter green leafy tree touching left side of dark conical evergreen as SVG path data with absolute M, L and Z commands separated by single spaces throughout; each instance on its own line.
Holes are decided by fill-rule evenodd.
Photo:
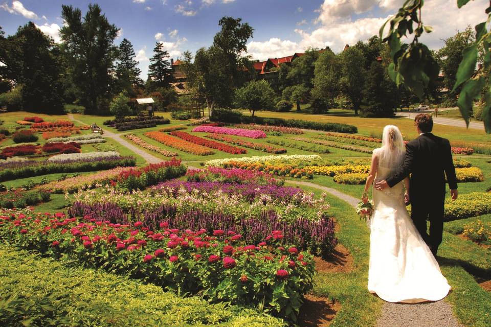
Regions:
M 362 42 L 362 44 L 364 43 Z M 354 114 L 358 115 L 366 75 L 366 58 L 363 52 L 356 46 L 351 46 L 351 48 L 346 49 L 339 56 L 341 61 L 340 87 L 342 92 L 348 97 Z M 371 62 L 376 62 L 376 57 Z

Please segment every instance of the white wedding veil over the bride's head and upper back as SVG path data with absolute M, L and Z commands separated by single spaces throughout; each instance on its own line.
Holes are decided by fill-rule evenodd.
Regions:
M 404 161 L 406 148 L 403 135 L 397 126 L 387 125 L 384 127 L 382 147 L 377 150 L 378 165 L 388 168 L 390 172 L 400 167 Z

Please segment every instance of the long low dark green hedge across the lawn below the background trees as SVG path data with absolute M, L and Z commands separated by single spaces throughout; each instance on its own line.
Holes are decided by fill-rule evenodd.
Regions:
M 333 131 L 342 133 L 358 133 L 358 128 L 353 125 L 339 123 L 319 123 L 296 119 L 264 118 L 258 116 L 245 116 L 240 111 L 229 109 L 214 109 L 210 120 L 214 122 L 234 123 L 234 124 L 260 124 L 285 126 L 304 129 L 314 129 L 320 131 Z

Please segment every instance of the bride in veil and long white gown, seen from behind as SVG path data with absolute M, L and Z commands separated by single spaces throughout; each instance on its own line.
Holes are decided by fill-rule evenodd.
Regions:
M 399 129 L 386 126 L 382 147 L 373 150 L 362 196 L 365 203 L 373 180 L 390 176 L 403 163 L 404 156 L 405 146 Z M 408 177 L 392 188 L 373 189 L 375 210 L 369 222 L 368 290 L 388 302 L 437 301 L 447 296 L 450 286 L 409 217 L 405 205 L 405 200 L 409 201 L 408 194 Z

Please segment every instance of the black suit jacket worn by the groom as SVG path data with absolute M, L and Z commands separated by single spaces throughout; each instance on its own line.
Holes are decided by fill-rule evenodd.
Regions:
M 450 189 L 457 189 L 457 176 L 449 140 L 432 133 L 421 134 L 413 139 L 406 145 L 403 165 L 387 178 L 387 184 L 392 187 L 409 176 L 409 173 L 409 196 L 412 202 L 444 197 L 445 175 Z

